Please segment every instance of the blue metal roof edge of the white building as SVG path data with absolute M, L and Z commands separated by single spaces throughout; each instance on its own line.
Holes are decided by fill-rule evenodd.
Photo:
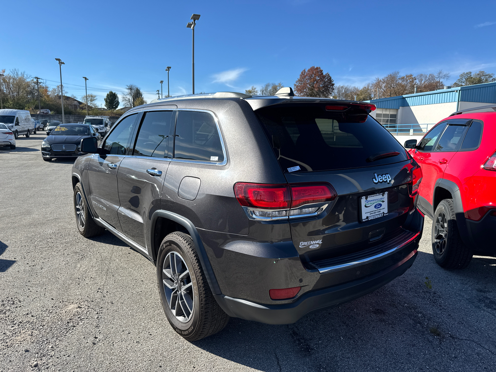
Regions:
M 458 100 L 461 102 L 496 103 L 496 82 L 379 98 L 367 102 L 375 104 L 378 109 L 399 109 L 405 106 L 433 105 L 435 103 L 457 102 Z

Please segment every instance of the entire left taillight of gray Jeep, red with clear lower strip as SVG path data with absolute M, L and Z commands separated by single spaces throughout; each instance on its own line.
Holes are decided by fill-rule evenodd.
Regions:
M 255 218 L 272 219 L 320 212 L 334 200 L 336 190 L 328 183 L 262 185 L 239 182 L 234 193 Z M 308 208 L 306 206 L 308 205 Z

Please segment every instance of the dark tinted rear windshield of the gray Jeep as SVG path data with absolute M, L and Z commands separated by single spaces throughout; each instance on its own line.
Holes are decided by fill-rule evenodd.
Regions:
M 332 112 L 325 106 L 278 106 L 256 114 L 284 172 L 371 167 L 408 159 L 398 141 L 357 107 Z

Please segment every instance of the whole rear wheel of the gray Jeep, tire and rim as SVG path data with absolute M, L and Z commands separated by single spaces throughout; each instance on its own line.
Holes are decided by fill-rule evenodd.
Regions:
M 179 263 L 180 268 L 171 262 Z M 182 277 L 181 281 L 178 276 Z M 215 301 L 189 235 L 177 231 L 164 238 L 158 251 L 157 281 L 167 320 L 186 340 L 200 340 L 227 325 L 230 317 Z M 174 301 L 178 297 L 183 306 Z

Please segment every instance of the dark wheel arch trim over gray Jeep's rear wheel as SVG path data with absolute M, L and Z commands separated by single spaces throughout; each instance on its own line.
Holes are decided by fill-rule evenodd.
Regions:
M 157 262 L 157 252 L 155 251 L 155 229 L 157 226 L 157 219 L 159 217 L 168 218 L 174 222 L 177 222 L 180 225 L 183 225 L 186 228 L 187 232 L 191 236 L 191 239 L 193 240 L 193 243 L 196 247 L 196 251 L 198 253 L 198 257 L 200 259 L 200 263 L 203 268 L 203 272 L 205 273 L 205 277 L 207 279 L 208 285 L 210 286 L 210 290 L 214 295 L 220 295 L 221 294 L 220 287 L 219 284 L 217 283 L 217 278 L 215 277 L 215 273 L 212 269 L 212 265 L 210 265 L 210 260 L 208 259 L 207 252 L 205 251 L 205 248 L 203 247 L 203 243 L 201 242 L 200 235 L 198 234 L 198 231 L 196 230 L 193 223 L 189 221 L 186 217 L 183 217 L 179 214 L 169 212 L 166 210 L 157 210 L 153 212 L 151 218 L 151 224 L 150 224 L 150 248 L 151 248 L 153 261 L 155 263 Z

